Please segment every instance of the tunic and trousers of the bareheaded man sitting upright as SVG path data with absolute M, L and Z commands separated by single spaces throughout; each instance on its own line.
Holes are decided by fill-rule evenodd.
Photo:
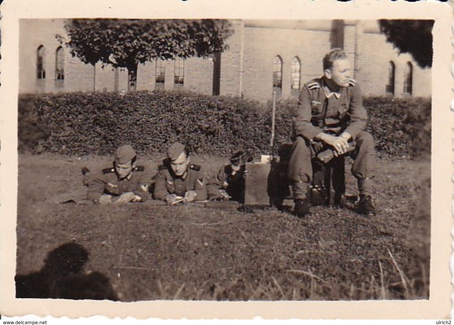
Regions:
M 349 87 L 332 92 L 324 78 L 307 82 L 301 89 L 298 108 L 293 119 L 293 151 L 289 162 L 289 179 L 293 183 L 309 183 L 312 179 L 311 145 L 313 138 L 324 132 L 339 136 L 348 132 L 356 142 L 351 152 L 355 160 L 352 173 L 358 179 L 373 177 L 375 149 L 372 136 L 365 132 L 367 114 L 362 105 L 361 91 L 354 80 Z M 294 186 L 294 198 L 305 197 L 305 186 Z

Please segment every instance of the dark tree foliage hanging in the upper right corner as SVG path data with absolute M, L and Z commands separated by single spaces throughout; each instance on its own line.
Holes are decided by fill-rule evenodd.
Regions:
M 434 20 L 380 19 L 386 41 L 400 53 L 410 53 L 421 68 L 432 66 L 432 28 Z

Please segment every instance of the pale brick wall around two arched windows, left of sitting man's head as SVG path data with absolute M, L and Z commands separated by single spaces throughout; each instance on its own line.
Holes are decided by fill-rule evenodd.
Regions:
M 301 85 L 322 73 L 320 58 L 330 49 L 330 32 L 301 29 L 246 28 L 243 48 L 242 93 L 260 101 L 272 98 L 273 62 L 282 59 L 281 97 L 291 92 L 291 63 L 301 62 Z

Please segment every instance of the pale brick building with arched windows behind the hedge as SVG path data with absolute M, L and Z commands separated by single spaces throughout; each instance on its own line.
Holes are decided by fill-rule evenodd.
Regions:
M 55 35 L 63 19 L 20 21 L 20 93 L 126 91 L 128 73 L 73 58 Z M 137 89 L 185 89 L 266 101 L 296 97 L 322 73 L 321 59 L 334 47 L 349 54 L 364 94 L 396 97 L 431 94 L 430 69 L 399 55 L 377 21 L 232 20 L 229 49 L 208 58 L 149 62 L 138 67 Z

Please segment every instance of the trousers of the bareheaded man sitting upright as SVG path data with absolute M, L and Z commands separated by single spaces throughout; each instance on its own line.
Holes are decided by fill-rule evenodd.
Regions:
M 375 173 L 375 143 L 370 133 L 361 131 L 354 139 L 355 150 L 348 153 L 354 160 L 351 173 L 356 179 L 372 179 Z M 314 158 L 310 141 L 297 136 L 293 142 L 288 168 L 288 178 L 292 184 L 293 199 L 305 199 L 312 181 L 312 163 Z

